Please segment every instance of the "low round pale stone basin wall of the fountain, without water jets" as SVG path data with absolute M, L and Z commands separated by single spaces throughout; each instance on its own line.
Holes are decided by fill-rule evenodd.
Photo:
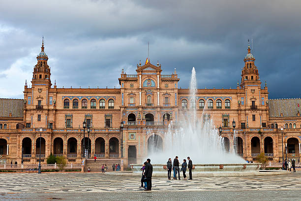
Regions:
M 140 164 L 131 164 L 133 173 L 140 173 Z M 196 164 L 192 169 L 194 176 L 244 176 L 244 175 L 257 175 L 261 174 L 259 168 L 260 163 L 250 164 Z M 152 165 L 153 176 L 166 176 L 167 169 L 166 165 L 154 164 Z M 173 171 L 172 171 L 173 174 Z M 186 171 L 188 175 L 188 169 Z M 181 173 L 182 177 L 182 173 Z

